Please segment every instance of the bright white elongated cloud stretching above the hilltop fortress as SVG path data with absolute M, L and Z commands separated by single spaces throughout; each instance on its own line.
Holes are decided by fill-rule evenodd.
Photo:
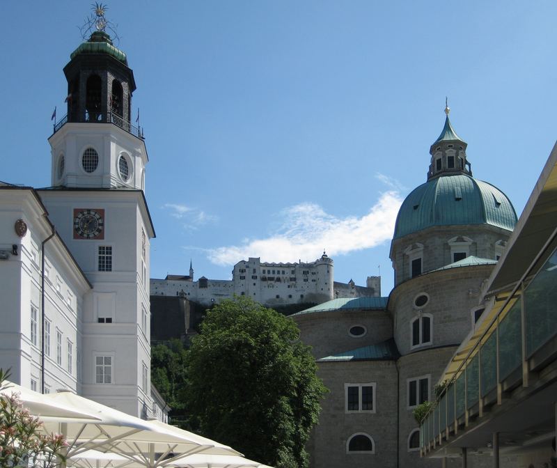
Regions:
M 400 194 L 391 190 L 382 194 L 367 214 L 345 218 L 328 214 L 315 203 L 300 203 L 280 213 L 277 233 L 208 249 L 207 255 L 217 265 L 234 265 L 248 257 L 273 262 L 313 261 L 322 249 L 327 249 L 329 256 L 369 249 L 391 239 L 400 203 Z

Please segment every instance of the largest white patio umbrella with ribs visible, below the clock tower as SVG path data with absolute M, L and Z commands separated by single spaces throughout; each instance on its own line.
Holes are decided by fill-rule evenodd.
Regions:
M 45 398 L 80 408 L 100 419 L 95 423 L 45 423 L 47 430 L 65 435 L 70 459 L 95 449 L 116 453 L 143 467 L 156 468 L 191 453 L 239 455 L 233 448 L 210 439 L 156 421 L 144 421 L 70 391 L 50 393 Z

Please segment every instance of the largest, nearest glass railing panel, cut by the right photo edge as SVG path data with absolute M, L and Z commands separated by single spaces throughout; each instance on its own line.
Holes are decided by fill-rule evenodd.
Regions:
M 557 251 L 524 290 L 528 357 L 557 333 Z

